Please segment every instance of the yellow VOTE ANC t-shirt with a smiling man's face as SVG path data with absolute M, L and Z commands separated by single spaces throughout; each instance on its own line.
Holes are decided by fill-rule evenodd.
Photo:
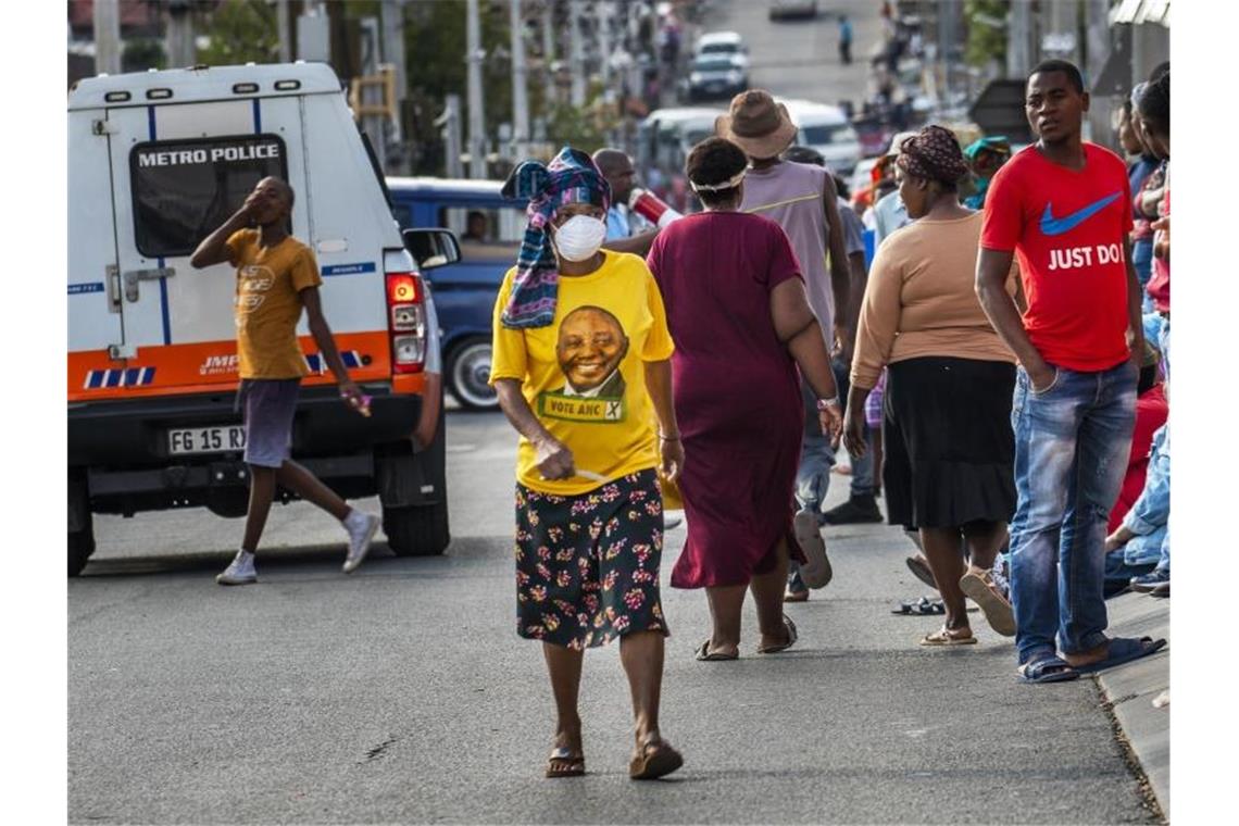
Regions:
M 602 254 L 606 260 L 596 271 L 560 276 L 549 327 L 509 329 L 499 321 L 515 276 L 515 267 L 508 270 L 494 302 L 491 384 L 520 381 L 534 415 L 572 451 L 577 473 L 611 480 L 658 466 L 644 362 L 669 359 L 675 348 L 646 261 L 628 253 Z M 517 479 L 567 497 L 602 484 L 582 476 L 544 479 L 524 436 Z

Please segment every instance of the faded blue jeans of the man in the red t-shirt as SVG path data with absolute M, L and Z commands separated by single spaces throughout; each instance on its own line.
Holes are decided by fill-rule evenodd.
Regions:
M 1011 523 L 1011 602 L 1020 663 L 1105 643 L 1105 528 L 1136 424 L 1137 368 L 1057 368 L 1033 393 L 1016 373 L 1011 426 L 1018 502 Z

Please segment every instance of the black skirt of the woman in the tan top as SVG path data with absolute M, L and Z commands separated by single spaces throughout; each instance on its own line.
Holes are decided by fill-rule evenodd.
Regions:
M 888 368 L 882 410 L 887 521 L 1009 523 L 1015 514 L 1015 365 L 926 357 Z

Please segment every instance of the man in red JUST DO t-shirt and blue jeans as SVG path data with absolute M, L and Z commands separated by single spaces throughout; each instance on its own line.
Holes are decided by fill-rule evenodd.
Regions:
M 1106 514 L 1127 466 L 1144 332 L 1126 166 L 1080 139 L 1088 105 L 1073 64 L 1032 71 L 1025 110 L 1040 139 L 994 176 L 976 261 L 978 296 L 1021 365 L 1011 602 L 1028 682 L 1073 680 L 1166 644 L 1104 634 Z M 1022 318 L 1004 287 L 1012 258 Z

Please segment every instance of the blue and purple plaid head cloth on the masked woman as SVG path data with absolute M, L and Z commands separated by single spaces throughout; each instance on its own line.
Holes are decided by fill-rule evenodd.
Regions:
M 611 208 L 611 185 L 585 152 L 565 146 L 549 163 L 525 161 L 508 176 L 504 198 L 528 198 L 529 224 L 517 256 L 512 295 L 501 320 L 504 327 L 549 327 L 555 320 L 559 265 L 548 224 L 560 207 L 591 203 Z

